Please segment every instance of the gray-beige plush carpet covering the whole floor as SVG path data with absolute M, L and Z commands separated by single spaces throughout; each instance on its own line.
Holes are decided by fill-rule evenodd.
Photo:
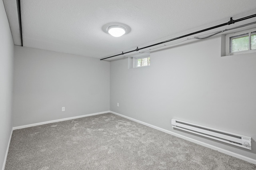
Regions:
M 256 165 L 106 113 L 14 130 L 5 170 L 256 170 Z

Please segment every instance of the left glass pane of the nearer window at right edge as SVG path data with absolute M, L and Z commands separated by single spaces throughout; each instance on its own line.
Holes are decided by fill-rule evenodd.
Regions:
M 249 49 L 249 36 L 232 38 L 232 53 Z

